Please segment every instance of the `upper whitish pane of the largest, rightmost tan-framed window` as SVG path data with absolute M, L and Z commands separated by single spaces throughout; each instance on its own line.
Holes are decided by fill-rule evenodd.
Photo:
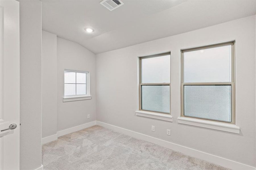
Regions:
M 184 52 L 184 82 L 231 82 L 231 45 Z

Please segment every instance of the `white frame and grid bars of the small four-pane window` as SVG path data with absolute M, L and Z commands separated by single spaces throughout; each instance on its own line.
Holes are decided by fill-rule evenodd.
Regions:
M 64 97 L 63 97 L 64 99 L 90 96 L 90 79 L 89 79 L 90 73 L 88 71 L 76 71 L 76 70 L 64 69 L 64 75 L 65 75 L 65 72 L 85 73 L 86 83 L 65 83 L 65 76 L 64 76 Z M 65 84 L 86 84 L 86 94 L 65 95 Z

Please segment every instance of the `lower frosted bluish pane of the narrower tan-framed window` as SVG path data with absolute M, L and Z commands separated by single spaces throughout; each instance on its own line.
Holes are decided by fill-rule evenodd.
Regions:
M 141 109 L 170 112 L 170 86 L 141 86 Z

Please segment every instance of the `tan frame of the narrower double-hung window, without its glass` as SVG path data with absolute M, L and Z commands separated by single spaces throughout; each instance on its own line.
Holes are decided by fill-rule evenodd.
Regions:
M 142 86 L 162 85 L 162 86 L 169 86 L 169 88 L 170 88 L 170 83 L 142 83 L 141 82 L 141 78 L 142 78 L 142 75 L 141 75 L 142 74 L 142 70 L 141 70 L 142 62 L 141 61 L 142 61 L 142 59 L 145 59 L 145 58 L 154 58 L 154 57 L 166 56 L 166 54 L 171 56 L 171 52 L 164 52 L 164 53 L 160 53 L 160 54 L 154 54 L 154 55 L 139 57 L 139 111 L 147 111 L 147 112 L 163 113 L 163 114 L 170 114 L 170 112 L 171 112 L 171 108 L 170 108 L 170 112 L 169 113 L 141 109 L 141 106 L 142 106 L 142 104 L 141 104 L 141 102 L 142 102 L 141 87 Z M 170 93 L 169 93 L 169 95 L 170 95 Z M 170 100 L 171 100 L 171 97 L 170 97 Z M 170 103 L 169 103 L 169 105 L 170 105 Z M 171 107 L 171 106 L 169 106 L 169 107 Z

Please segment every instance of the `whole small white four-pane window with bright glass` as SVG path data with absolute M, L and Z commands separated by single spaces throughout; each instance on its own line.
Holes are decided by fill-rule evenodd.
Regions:
M 64 70 L 63 101 L 91 99 L 89 90 L 89 72 Z M 83 98 L 86 97 L 86 98 Z M 89 97 L 89 98 L 88 98 Z M 73 99 L 79 98 L 79 99 Z

